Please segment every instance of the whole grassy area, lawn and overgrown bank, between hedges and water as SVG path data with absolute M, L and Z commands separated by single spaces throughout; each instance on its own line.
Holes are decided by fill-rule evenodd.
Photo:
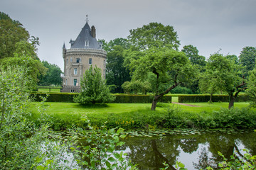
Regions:
M 30 106 L 31 120 L 41 119 L 34 102 Z M 80 106 L 78 103 L 46 103 L 46 119 L 53 130 L 66 130 L 73 125 L 86 128 L 86 116 L 97 127 L 109 128 L 256 128 L 256 112 L 247 108 L 248 103 L 235 103 L 228 110 L 228 103 L 189 103 L 201 107 L 159 103 L 156 111 L 150 111 L 150 103 L 109 103 Z

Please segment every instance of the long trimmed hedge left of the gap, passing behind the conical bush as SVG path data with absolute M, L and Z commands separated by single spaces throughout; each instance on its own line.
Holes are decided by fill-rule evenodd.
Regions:
M 73 98 L 78 94 L 48 94 L 46 101 L 48 102 L 74 102 Z M 40 96 L 46 97 L 43 93 L 31 94 L 35 98 L 35 101 L 42 101 Z M 115 100 L 112 103 L 152 103 L 154 96 L 151 95 L 114 95 Z M 163 96 L 159 102 L 171 103 L 171 96 Z

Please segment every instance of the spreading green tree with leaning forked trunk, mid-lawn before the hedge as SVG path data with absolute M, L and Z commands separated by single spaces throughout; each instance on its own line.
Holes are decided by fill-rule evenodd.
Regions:
M 179 84 L 192 81 L 196 69 L 183 52 L 168 47 L 161 49 L 152 47 L 143 53 L 144 55 L 138 59 L 130 59 L 128 67 L 132 70 L 132 79 L 134 80 L 145 81 L 149 74 L 154 75 L 151 84 L 154 84 L 152 91 L 155 96 L 151 110 L 155 110 L 159 98 L 168 94 Z

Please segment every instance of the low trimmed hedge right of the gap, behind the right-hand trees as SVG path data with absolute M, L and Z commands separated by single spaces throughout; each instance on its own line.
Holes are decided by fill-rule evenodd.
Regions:
M 198 103 L 198 102 L 208 102 L 210 100 L 210 95 L 182 95 L 178 96 L 179 103 Z M 229 102 L 228 95 L 213 95 L 213 102 Z M 235 99 L 236 102 L 250 101 L 249 97 L 246 95 L 240 95 Z

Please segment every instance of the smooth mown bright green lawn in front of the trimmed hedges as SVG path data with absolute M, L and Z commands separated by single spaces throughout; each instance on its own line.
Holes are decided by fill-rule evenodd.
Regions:
M 38 106 L 38 102 L 34 102 L 31 109 L 33 110 Z M 49 108 L 48 112 L 53 114 L 87 114 L 87 113 L 127 113 L 133 111 L 150 110 L 151 103 L 107 103 L 105 105 L 95 105 L 95 106 L 81 106 L 78 103 L 58 103 L 58 102 L 47 102 Z M 228 103 L 188 103 L 195 106 L 201 107 L 191 107 L 182 106 L 173 103 L 166 103 L 164 107 L 156 107 L 156 111 L 165 111 L 166 107 L 178 107 L 183 111 L 200 113 L 202 111 L 211 112 L 219 111 L 220 108 L 228 108 Z M 237 102 L 235 103 L 235 108 L 243 108 L 249 106 L 249 103 Z

